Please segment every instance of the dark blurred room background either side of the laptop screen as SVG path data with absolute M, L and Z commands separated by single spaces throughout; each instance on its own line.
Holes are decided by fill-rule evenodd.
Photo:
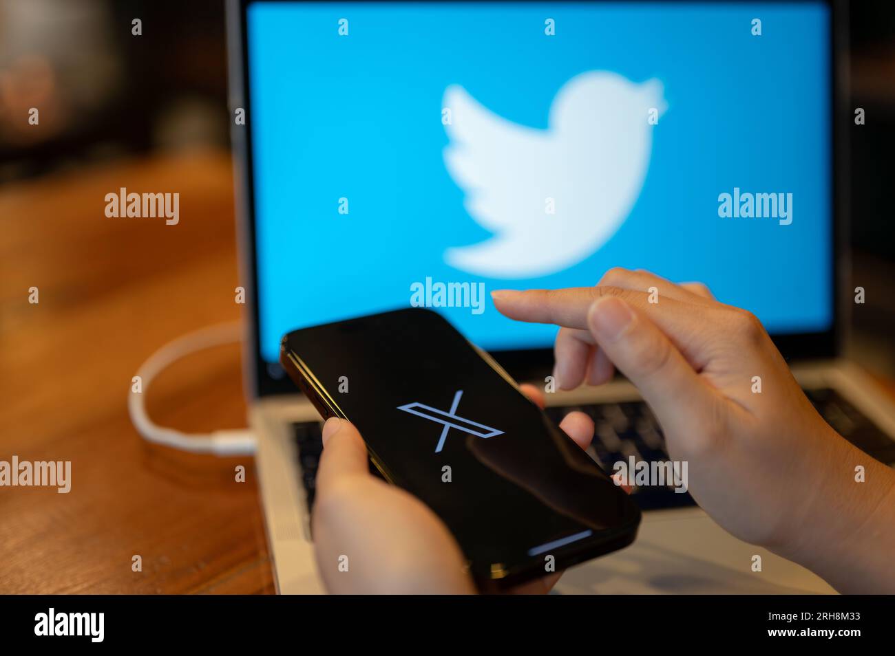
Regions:
M 895 2 L 859 0 L 849 13 L 850 105 L 866 115 L 849 130 L 850 241 L 854 285 L 867 290 L 849 348 L 891 374 Z M 227 149 L 226 98 L 224 0 L 0 0 L 0 184 L 150 151 Z M 35 106 L 40 130 L 21 119 Z

